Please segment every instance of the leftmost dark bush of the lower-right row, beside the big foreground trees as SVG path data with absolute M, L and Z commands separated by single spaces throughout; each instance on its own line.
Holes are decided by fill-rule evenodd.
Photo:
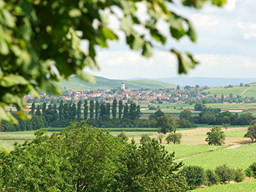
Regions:
M 200 166 L 184 166 L 180 173 L 185 176 L 190 189 L 203 185 L 205 181 L 205 172 Z

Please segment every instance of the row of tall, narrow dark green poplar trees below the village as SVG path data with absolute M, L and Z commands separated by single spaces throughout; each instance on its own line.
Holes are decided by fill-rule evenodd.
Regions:
M 112 118 L 119 119 L 130 119 L 135 120 L 140 118 L 140 105 L 135 103 L 123 104 L 123 102 L 113 100 L 112 106 L 107 103 L 99 103 L 99 101 L 94 100 L 82 100 L 75 103 L 64 103 L 63 100 L 60 101 L 59 107 L 56 104 L 38 104 L 37 107 L 33 103 L 31 105 L 31 115 L 44 116 L 48 123 L 55 120 L 69 119 L 69 120 L 88 120 L 88 119 L 100 119 L 100 120 L 110 120 L 110 114 Z

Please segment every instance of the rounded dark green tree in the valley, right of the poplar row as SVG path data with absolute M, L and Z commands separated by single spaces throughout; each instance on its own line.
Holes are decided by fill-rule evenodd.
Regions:
M 167 132 L 176 133 L 177 123 L 175 118 L 170 116 L 162 116 L 157 120 L 157 127 L 159 133 L 167 134 Z

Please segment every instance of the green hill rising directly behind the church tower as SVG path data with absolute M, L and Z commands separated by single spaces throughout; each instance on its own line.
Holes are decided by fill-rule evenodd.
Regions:
M 66 88 L 73 91 L 97 90 L 97 89 L 111 89 L 120 88 L 121 82 L 130 90 L 137 90 L 140 88 L 159 89 L 159 88 L 176 88 L 176 85 L 168 82 L 161 82 L 158 80 L 110 80 L 104 77 L 95 77 L 96 84 L 84 82 L 78 77 L 71 77 L 70 81 L 64 80 L 58 82 L 59 88 Z

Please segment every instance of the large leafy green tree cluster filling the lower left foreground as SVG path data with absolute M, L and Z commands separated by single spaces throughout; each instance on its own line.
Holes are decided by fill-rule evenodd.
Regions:
M 139 147 L 122 137 L 72 123 L 51 136 L 44 130 L 11 153 L 0 151 L 2 191 L 187 191 L 173 162 L 157 140 Z

